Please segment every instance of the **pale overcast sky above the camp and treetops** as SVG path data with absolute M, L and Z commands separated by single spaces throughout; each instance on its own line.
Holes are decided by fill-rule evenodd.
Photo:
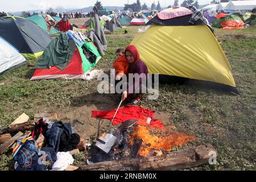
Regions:
M 141 3 L 146 2 L 147 6 L 151 6 L 154 0 L 141 0 Z M 182 3 L 183 0 L 179 0 Z M 198 0 L 200 5 L 205 5 L 211 0 Z M 14 11 L 26 11 L 26 10 L 36 10 L 36 9 L 48 9 L 49 7 L 56 8 L 57 6 L 62 6 L 64 9 L 74 8 L 81 9 L 88 6 L 93 6 L 96 0 L 1 0 L 0 11 L 14 12 Z M 125 3 L 134 3 L 136 0 L 101 0 L 103 6 L 123 6 Z M 158 0 L 155 0 L 157 3 Z M 174 0 L 160 0 L 160 5 L 166 7 L 168 5 L 173 5 Z

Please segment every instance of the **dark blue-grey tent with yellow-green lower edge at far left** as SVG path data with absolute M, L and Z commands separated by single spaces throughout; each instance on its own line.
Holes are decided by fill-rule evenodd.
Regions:
M 37 59 L 51 42 L 50 36 L 37 24 L 18 16 L 0 18 L 0 36 L 27 59 Z

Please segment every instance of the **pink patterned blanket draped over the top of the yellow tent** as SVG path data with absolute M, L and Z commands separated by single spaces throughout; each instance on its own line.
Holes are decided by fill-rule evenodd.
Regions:
M 191 15 L 193 12 L 185 7 L 171 7 L 168 9 L 165 9 L 163 11 L 160 11 L 160 13 L 157 14 L 159 19 L 166 20 L 166 19 L 172 19 L 172 18 L 177 18 L 180 16 L 185 16 L 185 15 Z

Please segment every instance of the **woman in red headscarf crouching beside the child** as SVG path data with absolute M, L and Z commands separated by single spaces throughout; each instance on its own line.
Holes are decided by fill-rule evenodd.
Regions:
M 127 104 L 137 105 L 141 101 L 143 93 L 146 91 L 146 81 L 148 70 L 146 64 L 140 59 L 138 49 L 133 46 L 127 46 L 125 49 L 126 68 L 124 72 L 127 76 L 127 89 L 122 93 L 122 100 Z M 138 79 L 129 80 L 129 73 L 137 73 Z M 144 80 L 143 80 L 144 79 Z

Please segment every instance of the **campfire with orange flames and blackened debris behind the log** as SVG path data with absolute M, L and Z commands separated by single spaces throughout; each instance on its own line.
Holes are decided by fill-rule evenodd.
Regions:
M 195 137 L 178 133 L 172 129 L 159 129 L 148 125 L 147 119 L 127 120 L 111 135 L 116 138 L 111 150 L 106 152 L 96 144 L 89 152 L 91 162 L 103 162 L 116 159 L 147 158 L 170 152 L 174 146 L 182 146 Z M 102 142 L 103 134 L 99 141 Z M 103 142 L 107 145 L 109 142 Z M 113 143 L 113 142 L 112 142 Z M 101 145 L 102 145 L 101 144 Z M 109 146 L 106 146 L 109 147 Z M 105 146 L 104 146 L 105 148 Z

